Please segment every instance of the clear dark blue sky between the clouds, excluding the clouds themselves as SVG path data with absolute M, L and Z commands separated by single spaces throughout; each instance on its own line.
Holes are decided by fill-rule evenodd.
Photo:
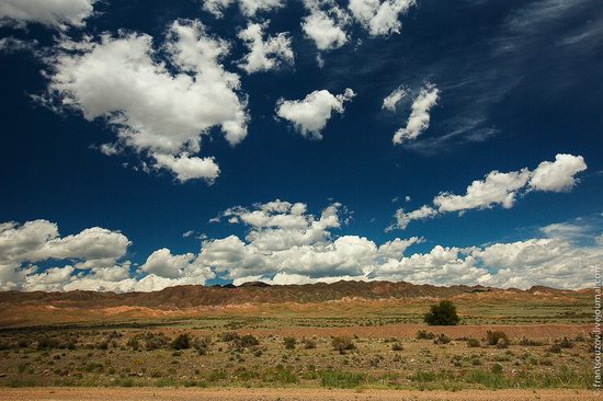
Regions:
M 135 171 L 135 156 L 106 157 L 94 149 L 115 139 L 102 121 L 57 115 L 31 100 L 46 85 L 39 60 L 27 53 L 0 54 L 0 221 L 44 218 L 57 222 L 64 236 L 93 226 L 122 230 L 134 242 L 129 257 L 143 263 L 162 247 L 173 253 L 198 251 L 197 239 L 182 238 L 189 230 L 211 238 L 241 234 L 240 227 L 208 220 L 235 205 L 275 198 L 307 203 L 314 213 L 332 198 L 354 213 L 338 234 L 377 243 L 425 237 L 413 247 L 419 251 L 436 243 L 525 239 L 538 236 L 538 227 L 599 214 L 603 8 L 598 0 L 582 1 L 543 19 L 537 12 L 543 3 L 422 0 L 402 16 L 399 35 L 371 38 L 355 25 L 351 43 L 325 54 L 320 69 L 314 43 L 299 27 L 305 11 L 292 1 L 266 18 L 270 33 L 291 32 L 295 67 L 252 76 L 236 67 L 244 50 L 236 33 L 246 24 L 236 8 L 216 20 L 191 0 L 98 4 L 101 14 L 88 20 L 87 33 L 123 28 L 150 34 L 159 45 L 166 27 L 186 18 L 201 19 L 211 33 L 229 38 L 232 55 L 225 65 L 241 73 L 249 94 L 249 135 L 235 148 L 219 133 L 204 138 L 202 154 L 215 156 L 221 169 L 213 185 Z M 50 45 L 56 34 L 35 25 L 0 28 L 0 37 L 35 38 L 42 45 Z M 582 38 L 571 41 L 577 37 Z M 391 137 L 406 124 L 412 99 L 396 113 L 382 111 L 383 99 L 400 84 L 418 91 L 425 82 L 441 90 L 431 126 L 417 142 L 395 147 Z M 343 116 L 329 121 L 322 140 L 304 139 L 274 118 L 280 98 L 345 88 L 357 96 Z M 447 214 L 413 221 L 405 232 L 384 231 L 400 206 L 416 209 L 442 191 L 464 194 L 492 170 L 534 169 L 557 153 L 583 156 L 589 165 L 571 193 L 530 193 L 511 209 Z M 403 202 L 406 195 L 410 203 Z M 402 200 L 392 203 L 396 196 Z

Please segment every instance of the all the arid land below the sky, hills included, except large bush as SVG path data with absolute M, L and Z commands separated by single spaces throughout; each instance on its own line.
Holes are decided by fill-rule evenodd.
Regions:
M 311 391 L 312 399 L 329 400 L 481 400 L 497 390 L 501 399 L 566 400 L 594 394 L 588 391 L 594 379 L 588 290 L 338 283 L 327 287 L 330 293 L 320 291 L 331 299 L 314 299 L 311 286 L 291 287 L 183 287 L 155 297 L 3 293 L 0 398 L 155 393 L 170 400 L 191 394 L 296 400 Z M 380 295 L 387 294 L 383 287 L 391 287 L 394 296 Z M 459 325 L 423 323 L 439 291 L 457 306 Z M 206 293 L 215 298 L 200 296 Z

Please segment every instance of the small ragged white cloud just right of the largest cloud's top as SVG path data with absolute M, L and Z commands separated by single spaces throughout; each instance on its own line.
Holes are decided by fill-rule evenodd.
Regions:
M 239 38 L 243 41 L 249 50 L 239 67 L 246 70 L 247 73 L 269 71 L 278 68 L 283 64 L 293 64 L 294 54 L 291 47 L 291 37 L 286 33 L 280 33 L 264 39 L 264 30 L 268 24 L 268 22 L 249 24 L 239 32 Z

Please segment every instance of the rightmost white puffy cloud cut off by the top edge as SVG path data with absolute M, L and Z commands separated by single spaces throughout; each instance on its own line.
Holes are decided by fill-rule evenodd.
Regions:
M 416 0 L 350 0 L 348 8 L 372 36 L 385 36 L 400 33 L 400 15 L 416 3 Z

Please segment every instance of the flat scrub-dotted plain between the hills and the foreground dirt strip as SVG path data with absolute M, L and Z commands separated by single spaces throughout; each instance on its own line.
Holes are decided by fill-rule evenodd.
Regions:
M 505 306 L 505 314 L 489 306 L 479 310 L 481 320 L 464 316 L 471 325 L 417 333 L 406 324 L 420 323 L 424 306 L 406 308 L 414 308 L 411 318 L 379 310 L 361 317 L 238 316 L 0 331 L 0 374 L 5 375 L 0 386 L 458 390 L 592 385 L 591 337 L 580 337 L 569 325 L 556 339 L 546 330 L 535 335 L 522 329 L 523 321 L 513 325 L 498 318 L 528 308 L 524 316 L 531 320 L 547 319 L 550 308 Z M 463 305 L 464 313 L 468 308 Z

